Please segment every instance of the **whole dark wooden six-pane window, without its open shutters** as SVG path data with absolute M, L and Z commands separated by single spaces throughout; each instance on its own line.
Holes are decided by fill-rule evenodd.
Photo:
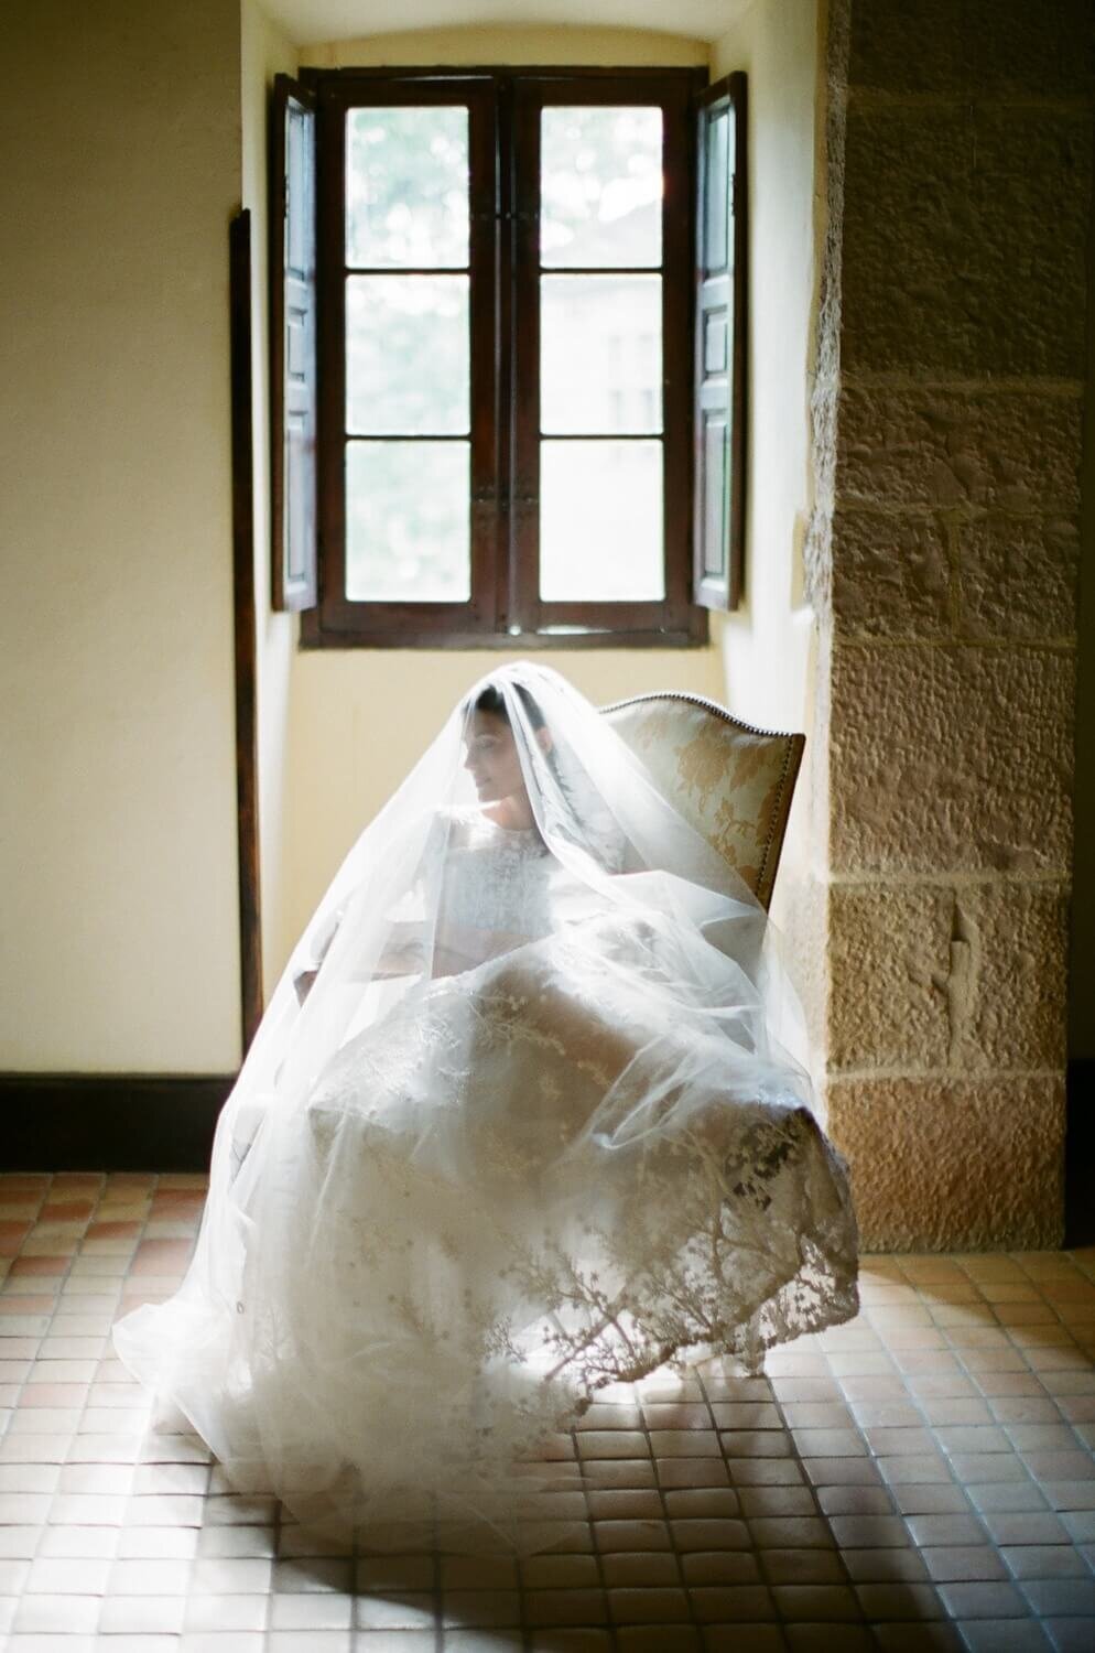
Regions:
M 306 71 L 312 646 L 684 645 L 697 71 Z

